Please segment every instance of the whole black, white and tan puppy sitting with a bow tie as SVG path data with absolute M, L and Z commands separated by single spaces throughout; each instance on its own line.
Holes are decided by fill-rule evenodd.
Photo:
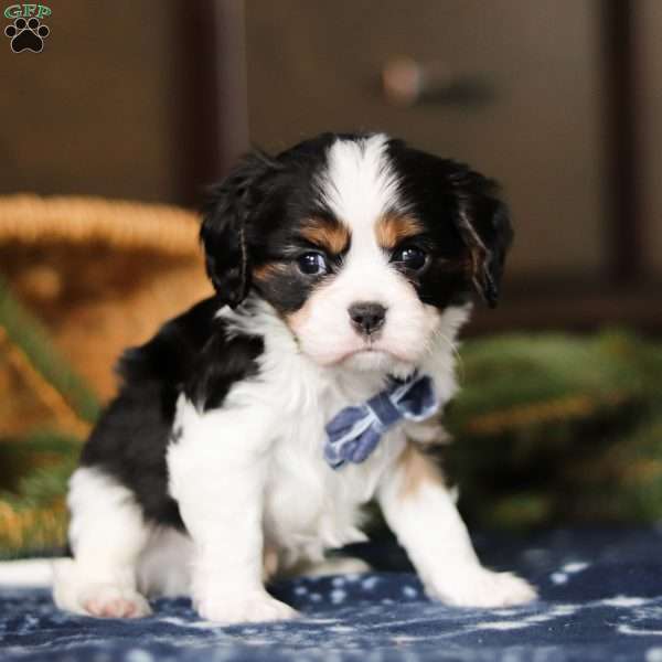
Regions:
M 124 355 L 83 450 L 56 602 L 138 617 L 186 594 L 213 621 L 291 618 L 267 578 L 363 540 L 373 498 L 429 596 L 533 599 L 480 565 L 425 453 L 511 234 L 493 182 L 383 135 L 245 158 L 204 212 L 216 296 Z

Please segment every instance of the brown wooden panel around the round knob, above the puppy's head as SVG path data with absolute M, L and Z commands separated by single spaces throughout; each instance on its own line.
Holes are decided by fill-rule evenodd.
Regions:
M 247 0 L 250 137 L 280 149 L 321 130 L 385 130 L 500 180 L 510 276 L 599 280 L 604 90 L 597 0 Z M 387 103 L 397 55 L 482 77 L 482 104 Z

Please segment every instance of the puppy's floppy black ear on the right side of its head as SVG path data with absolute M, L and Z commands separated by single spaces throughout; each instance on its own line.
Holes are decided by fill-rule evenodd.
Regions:
M 473 177 L 473 185 L 460 195 L 456 225 L 469 249 L 473 286 L 488 306 L 494 308 L 513 229 L 508 207 L 494 194 L 495 184 Z

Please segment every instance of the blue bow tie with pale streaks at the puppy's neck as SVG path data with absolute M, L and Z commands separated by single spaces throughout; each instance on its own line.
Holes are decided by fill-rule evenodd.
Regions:
M 438 408 L 429 376 L 414 374 L 404 381 L 391 377 L 384 391 L 362 405 L 341 409 L 327 424 L 324 459 L 333 469 L 345 462 L 363 462 L 388 428 L 403 419 L 425 420 Z

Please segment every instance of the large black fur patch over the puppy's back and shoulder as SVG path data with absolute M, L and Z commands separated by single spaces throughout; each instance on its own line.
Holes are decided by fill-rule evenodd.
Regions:
M 184 392 L 203 410 L 220 407 L 235 382 L 257 373 L 263 351 L 260 338 L 228 334 L 215 318 L 220 308 L 218 299 L 205 299 L 124 354 L 119 394 L 81 456 L 83 467 L 131 490 L 146 520 L 182 530 L 166 461 L 168 445 L 183 434 L 172 429 L 177 399 Z

